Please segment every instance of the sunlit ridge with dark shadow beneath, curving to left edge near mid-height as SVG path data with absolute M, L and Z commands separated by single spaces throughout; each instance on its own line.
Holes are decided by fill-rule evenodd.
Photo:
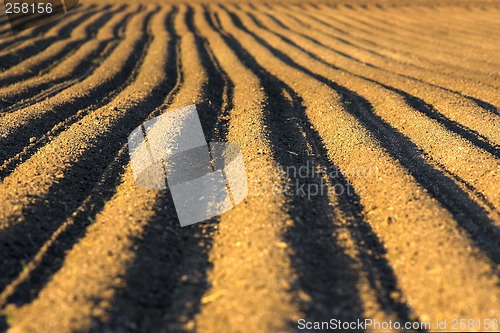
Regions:
M 40 137 L 61 122 L 70 125 L 105 105 L 115 95 L 114 91 L 120 91 L 133 80 L 134 68 L 140 64 L 142 54 L 136 50 L 144 48 L 148 41 L 148 36 L 138 31 L 137 26 L 141 26 L 141 20 L 144 22 L 147 15 L 142 11 L 128 22 L 125 38 L 92 75 L 47 100 L 0 118 L 0 143 L 5 147 L 0 160 L 5 163 L 26 146 L 36 144 L 29 142 L 31 137 Z M 2 169 L 4 175 L 11 172 L 5 165 Z

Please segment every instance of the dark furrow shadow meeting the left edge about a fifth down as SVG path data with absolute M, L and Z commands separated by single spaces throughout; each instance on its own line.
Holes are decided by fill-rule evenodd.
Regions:
M 8 54 L 4 56 L 0 56 L 0 64 L 2 64 L 3 68 L 11 68 L 14 65 L 19 64 L 21 61 L 28 59 L 29 57 L 36 55 L 40 53 L 40 51 L 44 50 L 50 44 L 53 42 L 60 40 L 60 39 L 66 39 L 69 38 L 71 35 L 71 31 L 77 27 L 80 23 L 84 22 L 87 20 L 89 17 L 92 15 L 95 15 L 96 13 L 100 11 L 105 11 L 109 8 L 110 6 L 106 6 L 102 9 L 96 10 L 96 11 L 87 11 L 85 14 L 81 15 L 78 19 L 73 21 L 71 24 L 66 24 L 60 31 L 57 36 L 50 36 L 47 38 L 43 38 L 40 40 L 37 40 L 33 43 L 30 43 L 29 45 L 24 46 L 20 50 L 16 50 L 13 52 L 9 52 Z

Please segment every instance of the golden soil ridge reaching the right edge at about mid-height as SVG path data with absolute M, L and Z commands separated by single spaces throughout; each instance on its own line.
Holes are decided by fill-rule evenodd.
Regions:
M 255 18 L 253 19 L 254 23 L 261 25 L 261 23 L 255 22 Z M 277 27 L 276 29 L 279 31 L 281 28 Z M 288 30 L 284 30 L 284 32 L 287 31 Z M 499 155 L 496 146 L 488 144 L 488 140 L 481 140 L 481 137 L 462 128 L 460 124 L 440 115 L 432 105 L 427 104 L 418 97 L 372 79 L 375 76 L 370 74 L 370 72 L 373 71 L 372 69 L 364 69 L 364 71 L 361 72 L 362 75 L 358 75 L 355 74 L 355 72 L 357 72 L 356 66 L 349 66 L 351 67 L 349 70 L 354 71 L 354 73 L 351 73 L 346 71 L 346 69 L 337 68 L 323 61 L 322 59 L 331 58 L 331 52 L 325 51 L 324 49 L 322 50 L 322 48 L 319 48 L 304 38 L 298 39 L 304 45 L 304 47 L 301 47 L 283 34 L 279 35 L 274 33 L 274 35 L 282 41 L 287 42 L 289 46 L 299 48 L 299 50 L 309 55 L 313 61 L 320 62 L 323 65 L 319 65 L 320 68 L 322 68 L 322 73 L 325 73 L 328 77 L 343 77 L 347 79 L 354 76 L 354 81 L 359 80 L 358 84 L 353 84 L 353 82 L 349 83 L 349 81 L 344 83 L 346 80 L 340 78 L 337 81 L 346 84 L 346 86 L 350 87 L 352 90 L 358 91 L 360 94 L 370 95 L 368 99 L 376 110 L 383 109 L 389 101 L 393 104 L 395 103 L 389 110 L 397 110 L 397 112 L 392 111 L 392 116 L 387 116 L 387 113 L 382 113 L 383 118 L 388 120 L 393 126 L 396 124 L 395 127 L 398 131 L 412 138 L 419 147 L 424 149 L 426 153 L 437 162 L 440 168 L 444 165 L 445 170 L 461 179 L 459 185 L 465 185 L 466 191 L 471 192 L 476 202 L 488 211 L 490 218 L 496 221 L 495 224 L 500 224 L 500 216 L 498 214 L 498 193 L 495 185 L 498 182 L 496 180 L 496 177 L 498 177 L 496 175 L 496 170 L 498 170 L 500 164 L 498 162 Z M 296 38 L 292 39 L 297 40 Z M 315 52 L 315 54 L 311 53 L 311 51 Z M 302 59 L 304 58 L 302 57 Z M 303 64 L 305 63 L 307 63 L 307 60 L 303 61 Z M 343 65 L 343 62 L 336 61 L 336 64 Z M 366 78 L 363 75 L 367 75 L 371 78 Z M 379 75 L 379 77 L 383 76 Z M 384 77 L 384 79 L 385 78 L 386 77 Z M 368 86 L 367 82 L 364 82 L 365 80 L 370 83 Z M 401 80 L 394 80 L 393 84 L 400 84 L 400 82 Z M 359 87 L 364 88 L 360 91 Z M 408 88 L 409 87 L 410 85 L 408 85 Z M 417 86 L 416 88 L 418 89 L 419 87 Z M 365 93 L 367 89 L 369 89 L 369 92 Z M 434 91 L 430 90 L 428 93 L 433 92 Z M 388 99 L 389 96 L 390 98 Z M 376 101 L 377 99 L 378 101 Z M 448 99 L 450 99 L 450 97 L 448 97 Z M 443 100 L 445 100 L 444 97 Z M 463 102 L 461 104 L 463 105 Z M 411 108 L 408 109 L 407 105 Z M 385 108 L 387 109 L 387 107 Z M 445 108 L 445 106 L 441 106 L 441 108 Z M 453 111 L 453 106 L 447 106 L 446 110 L 448 109 Z M 402 112 L 405 110 L 408 110 L 406 111 L 407 114 L 403 113 L 402 115 Z M 455 108 L 455 110 L 457 109 Z M 470 110 L 469 112 L 473 111 L 474 110 Z M 460 110 L 458 110 L 457 113 L 459 112 Z M 418 118 L 414 117 L 416 113 L 421 113 L 417 116 Z M 389 112 L 389 114 L 391 114 L 391 112 Z M 425 117 L 430 119 L 426 119 Z M 463 117 L 467 117 L 467 115 L 464 114 Z M 434 122 L 432 120 L 434 120 Z M 498 120 L 498 118 L 491 119 L 490 122 L 493 127 L 497 127 L 500 120 Z M 419 125 L 422 123 L 426 125 Z M 484 123 L 482 126 L 477 126 L 477 129 L 487 129 L 488 125 L 490 124 Z M 448 131 L 452 133 L 448 133 Z M 491 133 L 494 133 L 494 128 L 492 128 Z M 464 141 L 464 139 L 467 139 L 468 142 Z M 477 151 L 477 148 L 475 149 L 472 144 L 476 145 L 478 148 L 484 149 L 484 152 Z M 464 150 L 466 151 L 464 152 Z M 450 152 L 454 152 L 454 154 L 450 155 Z M 488 157 L 485 152 L 489 152 L 493 156 Z M 457 160 L 459 160 L 459 162 L 457 162 Z M 461 163 L 462 160 L 463 163 Z M 484 176 L 485 174 L 487 174 L 487 176 Z M 485 182 L 481 182 L 483 178 L 486 178 Z M 485 218 L 484 223 L 489 225 L 491 221 Z

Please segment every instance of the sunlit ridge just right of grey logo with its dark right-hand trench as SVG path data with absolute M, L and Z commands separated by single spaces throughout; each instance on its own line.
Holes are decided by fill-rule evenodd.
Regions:
M 374 267 L 370 258 L 364 256 L 366 253 L 358 254 L 357 257 L 353 255 L 353 252 L 356 252 L 356 250 L 353 248 L 348 250 L 346 244 L 348 241 L 342 239 L 344 237 L 349 238 L 348 228 L 339 225 L 340 223 L 336 224 L 333 222 L 337 219 L 343 222 L 349 219 L 342 212 L 332 211 L 328 207 L 329 202 L 325 196 L 312 199 L 317 200 L 318 203 L 311 204 L 308 198 L 300 197 L 300 194 L 289 195 L 284 190 L 287 186 L 290 186 L 290 182 L 292 181 L 294 183 L 297 181 L 301 186 L 304 186 L 307 180 L 293 178 L 292 180 L 288 180 L 287 183 L 286 180 L 284 181 L 281 178 L 288 176 L 283 174 L 283 170 L 290 170 L 292 168 L 300 169 L 308 163 L 317 163 L 317 166 L 325 163 L 325 161 L 320 161 L 321 158 L 319 157 L 311 160 L 307 159 L 306 154 L 308 149 L 312 149 L 315 154 L 318 151 L 314 143 L 310 141 L 311 138 L 308 137 L 311 133 L 307 133 L 309 130 L 304 129 L 301 125 L 303 121 L 301 119 L 301 112 L 303 112 L 303 109 L 300 105 L 300 99 L 282 81 L 277 80 L 256 64 L 253 57 L 239 45 L 236 39 L 221 30 L 218 27 L 216 17 L 210 17 L 208 13 L 206 13 L 206 16 L 207 21 L 210 22 L 210 27 L 207 27 L 206 23 L 201 22 L 203 25 L 200 25 L 202 27 L 200 30 L 208 33 L 213 29 L 218 33 L 209 34 L 209 40 L 213 44 L 213 49 L 216 50 L 215 52 L 224 68 L 228 71 L 231 79 L 234 80 L 237 91 L 239 91 L 239 94 L 236 93 L 235 95 L 236 108 L 231 112 L 233 115 L 231 119 L 234 120 L 230 123 L 239 124 L 243 129 L 251 121 L 251 118 L 248 119 L 249 116 L 258 116 L 262 118 L 262 127 L 264 129 L 264 133 L 260 134 L 260 137 L 266 138 L 266 141 L 269 142 L 261 148 L 260 154 L 259 152 L 256 154 L 255 150 L 253 150 L 253 156 L 256 156 L 257 159 L 252 158 L 249 161 L 250 165 L 247 164 L 247 171 L 250 173 L 250 191 L 256 191 L 259 196 L 265 196 L 262 199 L 265 199 L 267 202 L 272 200 L 272 205 L 267 205 L 269 208 L 280 208 L 284 212 L 271 210 L 266 214 L 268 215 L 268 220 L 264 222 L 276 229 L 274 233 L 278 232 L 278 234 L 275 237 L 282 239 L 283 243 L 274 243 L 268 240 L 266 235 L 260 232 L 263 226 L 257 223 L 259 219 L 254 221 L 255 216 L 260 216 L 262 207 L 266 205 L 260 204 L 257 206 L 258 204 L 256 204 L 257 207 L 260 207 L 258 215 L 256 209 L 251 209 L 250 212 L 247 212 L 244 206 L 236 208 L 225 215 L 234 219 L 234 221 L 231 223 L 228 222 L 226 225 L 223 224 L 226 219 L 224 216 L 222 217 L 220 224 L 221 234 L 215 239 L 214 249 L 211 252 L 215 258 L 215 267 L 212 274 L 214 287 L 207 295 L 207 302 L 209 303 L 202 308 L 202 312 L 197 318 L 198 329 L 200 331 L 217 332 L 224 329 L 223 326 L 219 325 L 225 324 L 226 329 L 227 325 L 229 325 L 230 330 L 234 332 L 244 331 L 249 326 L 252 331 L 274 332 L 286 327 L 287 321 L 296 322 L 297 318 L 304 317 L 309 320 L 326 318 L 332 316 L 332 313 L 339 309 L 342 309 L 342 313 L 340 314 L 342 319 L 361 318 L 365 314 L 365 310 L 369 314 L 373 314 L 375 309 L 381 311 L 380 305 L 375 305 L 378 300 L 384 303 L 383 306 L 390 308 L 388 310 L 389 313 L 394 311 L 396 307 L 400 306 L 399 302 L 391 304 L 392 301 L 386 298 L 386 290 L 370 290 L 370 282 L 374 282 L 374 284 L 381 282 L 379 279 L 387 278 L 388 276 L 385 273 L 390 273 L 390 271 L 382 273 L 379 269 L 383 264 L 378 265 L 379 267 Z M 234 68 L 235 64 L 239 64 L 237 68 Z M 245 65 L 243 66 L 243 64 Z M 242 73 L 246 75 L 241 77 Z M 248 85 L 249 83 L 251 85 Z M 262 88 L 257 89 L 259 86 Z M 247 108 L 242 109 L 244 113 L 240 113 L 238 110 L 240 103 L 243 105 L 248 104 L 247 97 L 250 91 L 253 94 L 257 93 L 257 96 L 261 95 L 262 92 L 265 93 L 260 98 L 254 96 L 255 98 L 250 99 L 261 101 L 260 104 L 263 110 L 259 111 L 256 115 L 253 115 L 253 112 L 250 113 Z M 263 98 L 265 99 L 262 101 Z M 289 100 L 289 98 L 292 98 L 292 100 Z M 277 112 L 277 110 L 281 112 Z M 254 121 L 251 122 L 254 123 Z M 307 124 L 305 127 L 307 127 Z M 232 130 L 230 130 L 229 137 L 234 137 L 235 142 L 238 141 L 242 145 L 247 146 L 248 144 L 245 143 L 247 142 L 247 132 L 241 133 L 243 130 L 240 130 L 237 126 L 231 126 L 230 128 Z M 304 140 L 301 139 L 302 137 L 304 137 Z M 252 138 L 254 137 L 252 136 Z M 256 141 L 257 138 L 252 140 L 252 142 Z M 252 150 L 249 151 L 249 153 L 251 152 Z M 261 155 L 260 158 L 258 158 L 259 155 Z M 276 170 L 277 166 L 274 164 L 276 162 L 272 162 L 271 160 L 271 163 L 263 163 L 263 158 L 272 158 L 272 160 L 279 163 L 277 165 L 278 170 Z M 255 177 L 259 182 L 254 183 L 251 173 L 259 172 L 263 174 Z M 276 176 L 276 173 L 279 177 Z M 289 176 L 292 177 L 291 175 Z M 249 194 L 246 204 L 252 205 L 255 199 L 252 194 Z M 335 199 L 332 200 L 331 205 L 337 206 L 334 202 Z M 305 214 L 304 210 L 322 211 L 322 214 L 321 216 L 311 217 L 311 215 Z M 243 235 L 241 235 L 242 228 L 238 227 L 237 230 L 232 231 L 234 228 L 232 226 L 238 223 L 238 217 L 242 214 L 250 216 L 250 219 L 245 219 L 246 225 L 243 227 L 244 235 L 252 235 L 251 237 L 254 238 L 248 243 L 245 241 Z M 254 236 L 255 234 L 258 236 Z M 333 236 L 332 234 L 336 237 L 328 237 Z M 238 240 L 236 246 L 231 244 L 233 239 Z M 255 239 L 265 239 L 265 243 L 256 243 Z M 356 240 L 351 239 L 350 241 L 355 242 Z M 290 289 L 289 295 L 284 295 L 291 298 L 292 301 L 292 304 L 289 305 L 290 309 L 288 313 L 282 308 L 285 305 L 283 301 L 276 298 L 279 294 L 274 290 L 275 283 L 273 281 L 275 278 L 268 277 L 270 272 L 259 273 L 254 271 L 261 267 L 260 264 L 251 264 L 249 265 L 250 268 L 247 268 L 247 265 L 243 264 L 244 269 L 237 271 L 231 269 L 231 265 L 235 260 L 242 263 L 246 261 L 255 262 L 255 253 L 262 253 L 263 251 L 265 251 L 265 258 L 263 260 L 266 261 L 266 264 L 262 265 L 266 266 L 266 270 L 275 267 L 276 264 L 269 265 L 269 262 L 273 260 L 273 256 L 268 258 L 266 252 L 271 251 L 272 247 L 271 249 L 266 249 L 266 244 L 267 247 L 272 245 L 278 248 L 285 248 L 285 253 L 288 254 L 293 264 L 296 276 L 291 275 L 288 281 L 278 283 L 282 287 L 286 286 L 286 289 Z M 322 258 L 314 258 L 316 252 L 321 252 L 324 256 Z M 235 256 L 237 259 L 234 258 Z M 261 257 L 260 254 L 259 257 Z M 360 257 L 363 257 L 363 259 L 360 259 Z M 283 265 L 283 259 L 280 259 L 279 262 L 281 263 L 281 270 L 290 270 L 290 268 Z M 249 269 L 252 271 L 248 272 L 247 270 Z M 362 270 L 359 276 L 356 269 Z M 274 270 L 273 268 L 271 273 Z M 228 271 L 231 274 L 227 274 Z M 312 272 L 315 272 L 315 274 L 311 274 Z M 379 275 L 380 273 L 382 274 Z M 250 295 L 248 300 L 246 297 L 242 300 L 242 291 L 239 289 L 235 290 L 233 287 L 234 281 L 241 281 L 238 285 L 242 285 L 243 290 L 252 292 L 253 288 L 258 288 L 258 284 L 260 283 L 259 281 L 255 281 L 255 279 L 250 279 L 250 277 L 255 276 L 259 277 L 259 281 L 260 279 L 266 281 L 265 291 L 262 291 L 262 295 L 259 293 L 260 296 L 258 298 Z M 360 281 L 355 283 L 358 279 Z M 350 290 L 350 296 L 347 297 L 339 289 L 336 289 L 336 285 L 349 286 L 346 288 Z M 383 285 L 384 287 L 387 287 L 387 285 Z M 365 291 L 363 295 L 356 292 L 361 289 Z M 268 293 L 271 293 L 271 295 L 268 295 Z M 364 304 L 361 304 L 362 301 L 360 298 L 363 298 Z M 255 303 L 255 305 L 252 303 Z M 280 308 L 277 307 L 278 304 Z M 273 316 L 269 316 L 268 307 L 273 309 Z M 294 307 L 298 309 L 294 309 Z M 241 315 L 228 316 L 229 308 L 232 309 L 231 313 L 234 314 L 236 312 L 241 313 Z M 251 313 L 248 312 L 250 309 L 255 308 L 259 308 L 260 310 L 257 313 L 255 310 Z M 402 308 L 396 310 L 396 312 L 402 310 L 402 316 L 405 316 L 404 312 L 406 310 L 404 310 L 404 305 L 402 305 Z M 297 310 L 300 310 L 302 313 L 298 313 Z M 339 315 L 338 312 L 336 314 L 337 316 Z M 379 319 L 389 318 L 383 314 L 377 314 L 376 316 Z M 389 316 L 393 318 L 393 314 Z M 243 325 L 243 323 L 245 324 Z M 282 327 L 279 326 L 280 324 Z M 245 328 L 242 328 L 243 326 Z

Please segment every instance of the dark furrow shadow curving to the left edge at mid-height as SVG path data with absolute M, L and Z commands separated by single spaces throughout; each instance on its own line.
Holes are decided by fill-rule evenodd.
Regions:
M 149 13 L 146 16 L 144 24 L 149 21 L 152 14 Z M 21 162 L 21 160 L 16 159 L 17 154 L 27 150 L 27 156 L 22 156 L 26 159 L 26 157 L 34 154 L 37 149 L 48 142 L 48 138 L 44 138 L 43 140 L 39 140 L 39 142 L 35 142 L 35 144 L 30 144 L 29 140 L 31 137 L 40 138 L 47 131 L 53 129 L 55 125 L 64 122 L 65 126 L 61 126 L 61 128 L 56 129 L 53 133 L 57 135 L 85 114 L 105 106 L 118 92 L 122 91 L 130 82 L 135 80 L 151 39 L 151 36 L 145 35 L 137 44 L 137 49 L 140 51 L 131 53 L 120 72 L 99 89 L 95 90 L 90 96 L 75 96 L 58 105 L 55 112 L 45 113 L 42 117 L 30 119 L 30 121 L 17 129 L 15 133 L 0 138 L 0 146 L 3 147 L 0 151 L 0 165 L 8 161 L 0 169 L 0 179 L 4 179 L 10 175 Z M 83 110 L 83 112 L 76 112 L 78 110 Z M 12 161 L 9 161 L 10 159 Z

